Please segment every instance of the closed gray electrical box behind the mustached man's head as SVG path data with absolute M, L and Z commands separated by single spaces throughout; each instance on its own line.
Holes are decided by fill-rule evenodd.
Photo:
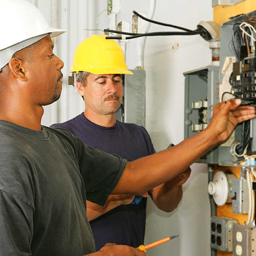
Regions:
M 116 119 L 145 127 L 145 70 L 131 70 L 134 75 L 122 75 L 123 100 Z

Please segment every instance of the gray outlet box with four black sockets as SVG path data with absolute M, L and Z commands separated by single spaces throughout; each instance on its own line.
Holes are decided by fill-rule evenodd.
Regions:
M 232 251 L 233 225 L 236 219 L 226 217 L 211 218 L 211 247 L 223 252 Z

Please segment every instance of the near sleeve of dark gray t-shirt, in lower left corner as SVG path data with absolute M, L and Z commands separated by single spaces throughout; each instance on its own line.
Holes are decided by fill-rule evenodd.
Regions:
M 0 256 L 30 256 L 33 210 L 20 198 L 0 189 Z

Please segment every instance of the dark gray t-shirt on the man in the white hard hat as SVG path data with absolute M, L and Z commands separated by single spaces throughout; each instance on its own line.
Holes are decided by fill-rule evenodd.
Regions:
M 0 120 L 0 256 L 94 252 L 86 199 L 103 206 L 125 164 L 64 129 Z

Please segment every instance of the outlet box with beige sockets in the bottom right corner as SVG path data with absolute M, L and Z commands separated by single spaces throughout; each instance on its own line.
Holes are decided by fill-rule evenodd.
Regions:
M 256 256 L 256 227 L 233 226 L 233 256 Z

